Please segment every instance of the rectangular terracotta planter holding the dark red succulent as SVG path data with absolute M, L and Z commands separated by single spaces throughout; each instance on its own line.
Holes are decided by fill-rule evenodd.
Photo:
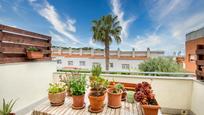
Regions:
M 142 105 L 143 111 L 145 115 L 157 115 L 158 110 L 160 109 L 159 105 Z

